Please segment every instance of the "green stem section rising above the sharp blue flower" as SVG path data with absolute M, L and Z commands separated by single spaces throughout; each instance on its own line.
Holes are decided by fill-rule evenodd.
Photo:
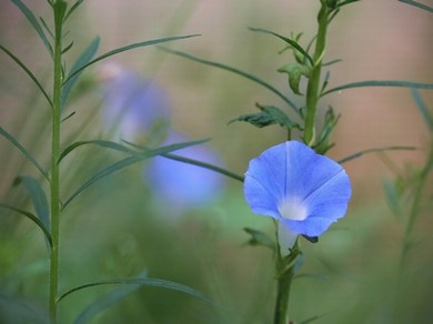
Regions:
M 330 9 L 325 0 L 321 0 L 322 7 L 318 14 L 319 30 L 318 39 L 315 41 L 314 50 L 314 65 L 311 68 L 309 78 L 309 84 L 306 87 L 306 115 L 305 115 L 305 131 L 304 141 L 306 144 L 312 145 L 314 142 L 314 123 L 315 123 L 315 111 L 319 101 L 319 89 L 320 89 L 320 77 L 322 70 L 322 59 L 326 48 L 326 31 L 329 24 Z

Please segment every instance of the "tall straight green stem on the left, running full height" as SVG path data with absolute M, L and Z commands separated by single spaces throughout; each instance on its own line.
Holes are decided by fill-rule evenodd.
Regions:
M 51 139 L 51 237 L 52 249 L 50 253 L 50 295 L 49 312 L 51 323 L 57 323 L 57 296 L 59 283 L 59 219 L 60 219 L 60 119 L 61 119 L 61 89 L 63 82 L 62 71 L 62 21 L 64 12 L 63 1 L 57 1 L 54 10 L 56 38 L 54 38 L 54 75 L 53 75 L 53 101 L 52 101 L 52 139 Z M 64 8 L 66 9 L 66 8 Z

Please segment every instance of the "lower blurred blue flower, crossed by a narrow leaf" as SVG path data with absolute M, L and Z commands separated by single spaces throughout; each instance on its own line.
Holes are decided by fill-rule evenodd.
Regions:
M 191 139 L 172 132 L 163 145 L 188 142 Z M 194 145 L 173 152 L 175 155 L 221 166 L 221 160 L 211 148 Z M 153 191 L 170 209 L 190 209 L 214 202 L 224 186 L 224 178 L 208 169 L 157 156 L 151 160 L 145 176 Z

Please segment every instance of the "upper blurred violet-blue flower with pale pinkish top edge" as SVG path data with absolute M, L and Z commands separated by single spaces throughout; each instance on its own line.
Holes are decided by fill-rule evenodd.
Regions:
M 155 81 L 114 62 L 102 67 L 102 123 L 118 138 L 133 141 L 159 120 L 170 119 L 168 94 Z

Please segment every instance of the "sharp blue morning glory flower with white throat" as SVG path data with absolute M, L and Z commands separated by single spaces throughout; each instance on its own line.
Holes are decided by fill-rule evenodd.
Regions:
M 279 221 L 280 245 L 291 247 L 299 234 L 320 236 L 344 216 L 352 190 L 339 163 L 289 141 L 250 161 L 244 194 L 254 213 Z

